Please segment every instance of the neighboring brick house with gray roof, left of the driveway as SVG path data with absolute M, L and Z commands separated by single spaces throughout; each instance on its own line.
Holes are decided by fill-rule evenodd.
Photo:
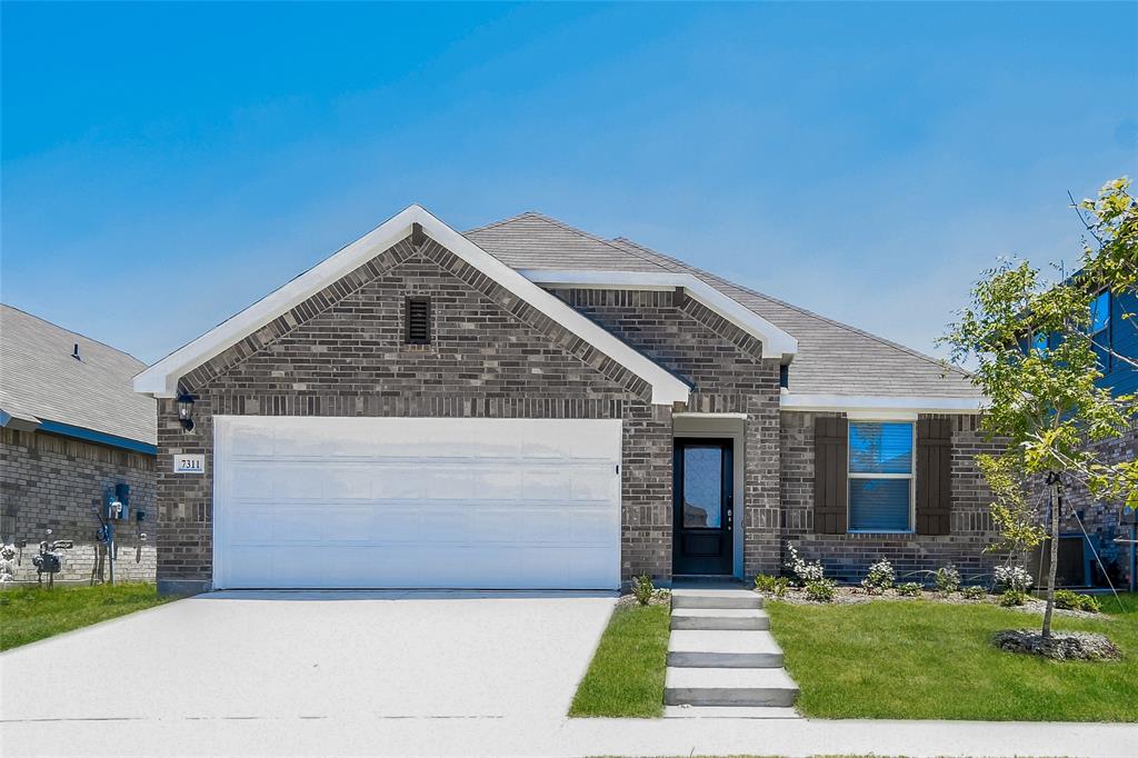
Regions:
M 115 579 L 154 582 L 157 550 L 142 535 L 154 533 L 146 519 L 155 513 L 156 411 L 152 398 L 131 387 L 143 368 L 126 353 L 0 305 L 0 539 L 19 546 L 16 580 L 36 579 L 32 559 L 46 538 L 74 542 L 61 551 L 57 580 L 108 579 L 97 532 L 107 493 L 118 487 L 129 518 L 114 524 Z

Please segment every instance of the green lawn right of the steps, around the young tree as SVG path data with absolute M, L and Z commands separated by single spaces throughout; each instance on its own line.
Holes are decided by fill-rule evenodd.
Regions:
M 1099 632 L 1115 662 L 1057 662 L 1006 653 L 995 632 L 1041 617 L 991 604 L 879 601 L 858 605 L 767 603 L 798 708 L 823 718 L 1135 722 L 1138 711 L 1138 595 L 1113 618 L 1057 617 L 1056 629 Z

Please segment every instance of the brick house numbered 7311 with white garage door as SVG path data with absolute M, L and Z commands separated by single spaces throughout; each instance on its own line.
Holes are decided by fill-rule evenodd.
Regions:
M 990 568 L 967 376 L 538 214 L 411 206 L 134 386 L 164 591 Z

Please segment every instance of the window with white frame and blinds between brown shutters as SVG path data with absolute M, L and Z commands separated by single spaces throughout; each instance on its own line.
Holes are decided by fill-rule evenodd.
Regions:
M 913 530 L 914 425 L 850 421 L 850 532 Z

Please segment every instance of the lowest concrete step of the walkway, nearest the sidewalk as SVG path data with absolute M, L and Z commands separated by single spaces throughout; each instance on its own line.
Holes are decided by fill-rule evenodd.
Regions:
M 663 684 L 666 706 L 790 708 L 798 685 L 782 668 L 674 668 Z

